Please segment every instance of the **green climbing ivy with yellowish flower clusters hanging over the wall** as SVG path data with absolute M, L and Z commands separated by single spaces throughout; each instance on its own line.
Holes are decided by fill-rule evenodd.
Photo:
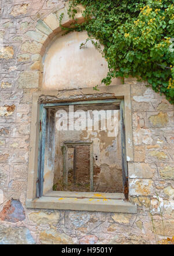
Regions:
M 68 15 L 74 24 L 68 31 L 86 30 L 86 42 L 91 40 L 102 51 L 109 69 L 102 83 L 109 85 L 114 77 L 136 77 L 174 104 L 173 2 L 70 0 Z M 79 4 L 85 6 L 82 24 L 75 22 Z

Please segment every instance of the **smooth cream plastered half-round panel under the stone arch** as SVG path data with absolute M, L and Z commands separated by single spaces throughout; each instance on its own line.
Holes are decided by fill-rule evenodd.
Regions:
M 107 75 L 107 61 L 88 41 L 84 48 L 79 48 L 88 38 L 86 31 L 58 35 L 44 56 L 44 75 L 42 87 L 45 90 L 64 90 L 73 88 L 95 87 L 101 84 Z M 114 79 L 113 85 L 121 84 Z

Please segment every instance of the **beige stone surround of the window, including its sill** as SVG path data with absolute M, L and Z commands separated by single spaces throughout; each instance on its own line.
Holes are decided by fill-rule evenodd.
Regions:
M 75 92 L 74 92 L 75 91 Z M 70 193 L 50 191 L 40 198 L 36 198 L 37 167 L 38 167 L 38 142 L 39 142 L 39 105 L 48 102 L 86 101 L 91 99 L 124 98 L 125 102 L 125 137 L 126 160 L 133 161 L 132 145 L 132 113 L 131 113 L 131 88 L 129 84 L 119 86 L 102 86 L 99 91 L 93 88 L 79 90 L 65 90 L 63 97 L 57 97 L 58 91 L 37 91 L 32 95 L 30 155 L 28 163 L 28 189 L 27 208 L 69 209 L 82 211 L 126 212 L 136 213 L 136 205 L 124 200 L 120 193 Z

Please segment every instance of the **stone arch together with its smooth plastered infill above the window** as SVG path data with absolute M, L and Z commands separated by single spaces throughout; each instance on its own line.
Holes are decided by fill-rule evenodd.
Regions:
M 75 19 L 78 23 L 84 22 L 84 10 L 82 5 L 77 6 Z M 61 36 L 59 19 L 62 13 L 62 26 L 70 27 L 74 21 L 68 16 L 66 2 L 63 9 L 38 20 L 35 29 L 26 33 L 39 54 L 31 67 L 34 79 L 38 80 L 38 86 L 35 87 L 50 91 L 100 85 L 108 72 L 107 61 L 90 41 L 84 48 L 79 48 L 81 42 L 88 38 L 86 31 L 74 31 Z M 111 85 L 117 84 L 121 84 L 121 79 L 113 79 Z

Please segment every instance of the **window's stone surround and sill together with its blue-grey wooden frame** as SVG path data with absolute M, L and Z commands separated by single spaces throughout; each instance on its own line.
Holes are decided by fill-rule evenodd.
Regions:
M 128 162 L 133 161 L 130 86 L 128 84 L 110 86 L 109 93 L 106 87 L 101 87 L 100 93 L 93 91 L 92 88 L 81 89 L 81 92 L 84 95 L 90 95 L 88 96 L 90 100 L 83 99 L 82 101 L 68 102 L 69 97 L 67 97 L 66 101 L 61 101 L 61 99 L 55 97 L 57 91 L 49 93 L 48 91 L 39 91 L 33 95 L 26 207 L 135 213 L 137 210 L 136 205 L 132 205 L 129 201 L 124 200 L 125 197 L 126 200 L 128 200 Z M 43 100 L 42 98 L 46 98 L 47 95 L 49 95 L 50 98 L 55 97 L 57 100 L 54 99 L 53 102 L 48 102 L 47 99 Z M 78 97 L 75 97 L 75 100 L 78 100 L 77 98 Z M 52 101 L 52 99 L 50 99 L 50 101 Z M 121 193 L 101 193 L 102 198 L 96 197 L 96 195 L 92 193 L 78 192 L 73 194 L 66 191 L 62 191 L 62 193 L 59 194 L 56 193 L 57 191 L 48 191 L 48 193 L 43 194 L 43 156 L 45 148 L 42 147 L 42 145 L 45 145 L 46 140 L 46 109 L 55 108 L 55 106 L 96 104 L 96 102 L 119 102 L 120 104 L 122 119 L 122 154 L 124 155 L 124 158 L 122 157 L 122 166 L 124 167 L 124 175 L 122 175 L 122 177 L 125 197 Z M 43 134 L 45 135 L 43 136 Z M 60 199 L 64 199 L 64 201 L 59 201 Z M 92 202 L 89 203 L 89 201 Z

